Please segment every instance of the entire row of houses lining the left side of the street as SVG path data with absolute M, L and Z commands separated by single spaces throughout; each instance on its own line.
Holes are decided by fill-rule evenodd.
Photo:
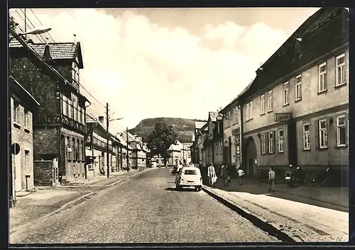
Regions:
M 80 42 L 35 43 L 14 25 L 9 31 L 11 200 L 34 185 L 145 169 L 149 150 L 140 137 L 107 131 L 103 117 L 87 113 Z

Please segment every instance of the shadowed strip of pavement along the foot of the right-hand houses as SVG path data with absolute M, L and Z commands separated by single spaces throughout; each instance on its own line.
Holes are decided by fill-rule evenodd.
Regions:
M 243 186 L 239 186 L 238 180 L 232 179 L 231 181 L 232 187 L 223 186 L 222 179 L 219 178 L 216 187 L 225 191 L 269 194 L 286 200 L 349 212 L 349 188 L 317 188 L 316 186 L 290 188 L 285 183 L 275 183 L 275 193 L 270 193 L 268 192 L 268 183 L 253 179 L 242 179 Z

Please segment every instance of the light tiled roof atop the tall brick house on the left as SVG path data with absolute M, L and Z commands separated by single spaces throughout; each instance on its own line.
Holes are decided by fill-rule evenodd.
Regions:
M 44 55 L 45 52 L 45 43 L 28 43 L 28 46 L 31 46 L 38 55 Z M 78 55 L 79 59 L 79 68 L 84 67 L 82 62 L 82 51 L 80 42 L 50 42 L 49 52 L 52 59 L 75 59 Z M 23 47 L 18 40 L 11 40 L 10 47 Z

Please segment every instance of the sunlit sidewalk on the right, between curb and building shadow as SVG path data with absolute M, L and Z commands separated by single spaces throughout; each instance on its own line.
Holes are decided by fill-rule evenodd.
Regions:
M 234 183 L 235 186 L 224 188 L 229 189 L 228 191 L 221 188 L 223 187 L 221 181 L 217 181 L 216 184 L 214 188 L 206 186 L 204 188 L 288 234 L 297 242 L 349 240 L 349 212 L 278 198 L 275 195 L 278 189 L 275 193 L 268 193 L 263 191 L 265 186 L 259 185 L 257 191 L 255 183 L 243 186 Z M 279 188 L 278 186 L 275 188 Z M 247 191 L 248 189 L 253 191 Z

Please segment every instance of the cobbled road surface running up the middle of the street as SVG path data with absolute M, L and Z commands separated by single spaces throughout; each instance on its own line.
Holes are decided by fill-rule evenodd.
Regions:
M 13 232 L 12 244 L 275 242 L 203 191 L 175 191 L 171 169 L 133 176 Z

